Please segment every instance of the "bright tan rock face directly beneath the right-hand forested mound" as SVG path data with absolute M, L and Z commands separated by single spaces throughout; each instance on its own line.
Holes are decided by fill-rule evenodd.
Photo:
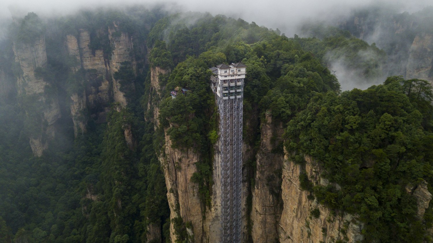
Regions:
M 326 185 L 327 181 L 320 178 L 320 171 L 310 157 L 306 157 L 304 166 L 295 164 L 284 157 L 282 171 L 281 194 L 283 211 L 279 223 L 279 240 L 281 243 L 309 242 L 324 243 L 344 240 L 346 242 L 362 241 L 362 224 L 355 216 L 344 213 L 334 215 L 330 209 L 311 200 L 308 191 L 302 190 L 299 175 L 306 173 L 314 185 Z M 319 217 L 310 215 L 314 209 L 320 211 Z M 345 229 L 345 230 L 342 230 Z M 346 233 L 342 233 L 346 231 Z

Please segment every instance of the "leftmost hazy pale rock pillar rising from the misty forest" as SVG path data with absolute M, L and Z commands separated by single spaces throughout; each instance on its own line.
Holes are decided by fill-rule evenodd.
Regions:
M 30 103 L 38 102 L 42 107 L 39 111 L 32 110 L 32 104 L 25 104 L 27 114 L 40 112 L 42 120 L 36 121 L 40 124 L 40 131 L 33 131 L 30 135 L 30 146 L 35 156 L 42 156 L 42 152 L 48 148 L 48 140 L 55 135 L 55 122 L 61 117 L 57 97 L 48 97 L 45 87 L 51 86 L 42 77 L 36 74 L 38 68 L 45 68 L 47 55 L 45 50 L 45 38 L 40 36 L 31 44 L 13 45 L 15 60 L 19 63 L 22 74 L 18 77 L 18 93 L 33 97 Z M 33 119 L 33 118 L 29 118 Z

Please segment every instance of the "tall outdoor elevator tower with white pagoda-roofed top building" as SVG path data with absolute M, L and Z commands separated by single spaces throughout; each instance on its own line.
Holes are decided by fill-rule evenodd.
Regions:
M 223 243 L 241 242 L 242 112 L 246 65 L 211 68 L 212 89 L 220 112 L 221 223 Z

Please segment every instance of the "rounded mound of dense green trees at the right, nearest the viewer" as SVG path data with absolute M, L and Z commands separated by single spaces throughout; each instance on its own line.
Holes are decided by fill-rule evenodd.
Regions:
M 305 189 L 335 210 L 359 214 L 368 242 L 430 240 L 405 192 L 408 183 L 432 179 L 432 91 L 424 84 L 390 77 L 364 91 L 317 94 L 289 122 L 286 148 L 294 159 L 312 156 L 341 186 L 313 187 L 304 179 Z M 431 217 L 424 215 L 429 225 Z

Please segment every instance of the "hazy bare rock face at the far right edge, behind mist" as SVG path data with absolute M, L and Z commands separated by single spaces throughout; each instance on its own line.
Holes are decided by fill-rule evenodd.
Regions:
M 433 84 L 433 35 L 418 34 L 409 50 L 406 78 L 424 79 Z

